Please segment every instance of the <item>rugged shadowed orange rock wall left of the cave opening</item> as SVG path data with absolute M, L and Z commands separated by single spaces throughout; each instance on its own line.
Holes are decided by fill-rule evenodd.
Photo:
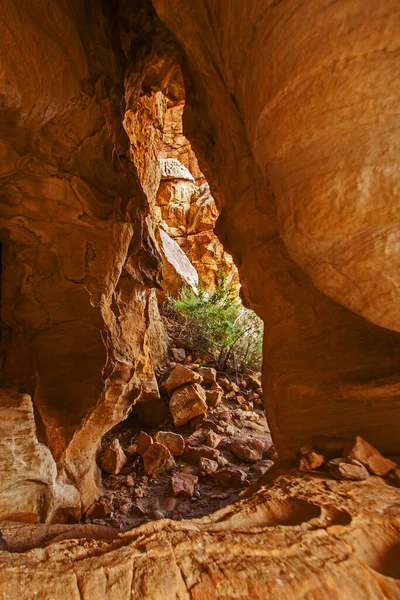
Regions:
M 90 2 L 6 0 L 1 11 L 0 385 L 31 395 L 36 435 L 78 490 L 80 512 L 98 494 L 102 434 L 158 395 L 152 182 L 128 156 L 110 15 Z

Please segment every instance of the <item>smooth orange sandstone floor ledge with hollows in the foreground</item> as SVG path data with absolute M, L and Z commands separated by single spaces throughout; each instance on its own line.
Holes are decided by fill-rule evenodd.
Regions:
M 0 552 L 0 594 L 19 600 L 34 592 L 110 600 L 399 597 L 399 490 L 373 476 L 339 482 L 287 469 L 264 483 L 272 480 L 273 487 L 250 490 L 200 520 L 148 523 L 111 542 L 65 539 L 26 554 Z

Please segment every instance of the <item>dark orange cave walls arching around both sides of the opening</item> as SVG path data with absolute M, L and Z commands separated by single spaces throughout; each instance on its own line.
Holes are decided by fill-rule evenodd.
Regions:
M 0 385 L 31 396 L 86 507 L 103 433 L 158 402 L 152 209 L 175 133 L 192 161 L 160 121 L 182 68 L 194 177 L 266 324 L 280 451 L 315 433 L 399 451 L 396 3 L 153 4 L 183 50 L 144 0 L 2 5 Z

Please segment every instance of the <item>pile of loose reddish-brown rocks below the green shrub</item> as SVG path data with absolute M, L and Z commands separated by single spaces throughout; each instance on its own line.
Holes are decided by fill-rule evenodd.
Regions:
M 169 410 L 158 428 L 143 431 L 130 417 L 105 436 L 105 490 L 86 522 L 128 530 L 201 517 L 234 502 L 273 465 L 255 374 L 230 377 L 194 349 L 174 347 L 159 386 Z

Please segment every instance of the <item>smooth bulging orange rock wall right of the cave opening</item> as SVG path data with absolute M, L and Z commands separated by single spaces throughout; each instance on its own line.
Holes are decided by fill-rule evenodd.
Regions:
M 361 432 L 398 452 L 397 3 L 153 5 L 186 54 L 219 237 L 265 320 L 280 451 Z

